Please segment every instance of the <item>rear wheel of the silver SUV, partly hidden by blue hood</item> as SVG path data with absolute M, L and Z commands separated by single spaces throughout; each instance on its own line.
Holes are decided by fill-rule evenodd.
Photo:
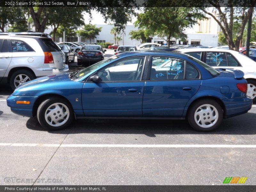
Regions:
M 31 81 L 33 79 L 35 79 L 36 76 L 26 70 L 26 69 L 21 69 L 21 70 L 18 70 L 18 71 L 15 71 L 11 78 L 10 78 L 10 85 L 12 87 L 12 90 L 16 89 L 16 87 L 20 86 L 21 84 L 24 84 L 28 81 Z

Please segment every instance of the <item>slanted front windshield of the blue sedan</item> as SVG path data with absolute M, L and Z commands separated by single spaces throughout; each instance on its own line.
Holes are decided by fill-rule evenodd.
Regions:
M 83 78 L 84 76 L 86 76 L 87 74 L 91 73 L 92 71 L 94 71 L 95 69 L 103 66 L 105 63 L 108 63 L 112 60 L 116 60 L 118 59 L 119 57 L 117 55 L 114 55 L 112 57 L 109 57 L 108 59 L 105 59 L 105 60 L 102 60 L 98 63 L 95 63 L 87 68 L 84 68 L 84 69 L 81 69 L 80 71 L 77 71 L 76 72 L 76 75 L 73 77 L 74 79 L 81 79 Z

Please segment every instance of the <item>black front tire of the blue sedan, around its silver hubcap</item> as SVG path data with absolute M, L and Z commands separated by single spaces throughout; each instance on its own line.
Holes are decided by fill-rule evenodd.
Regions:
M 60 125 L 60 126 L 52 126 L 52 125 L 48 124 L 46 119 L 45 119 L 45 113 L 46 113 L 47 108 L 49 108 L 51 105 L 54 105 L 55 103 L 60 103 L 62 105 L 64 104 L 65 106 L 62 106 L 62 110 L 64 111 L 67 107 L 68 111 L 69 111 L 69 116 L 67 118 L 64 118 L 65 120 L 63 120 L 63 121 L 66 121 L 66 120 L 67 121 L 64 124 Z M 60 105 L 58 105 L 58 106 L 60 106 Z M 65 111 L 65 112 L 67 112 L 67 111 Z M 63 114 L 62 111 L 60 111 L 60 112 L 58 111 L 58 113 Z M 58 113 L 53 113 L 53 116 L 56 116 L 57 118 L 59 118 Z M 67 115 L 68 115 L 68 113 L 67 113 Z M 60 116 L 59 121 L 61 121 L 61 118 L 62 117 Z M 60 97 L 51 97 L 51 98 L 48 98 L 48 99 L 44 100 L 39 105 L 39 107 L 37 109 L 37 119 L 38 119 L 39 123 L 42 125 L 42 127 L 44 129 L 46 129 L 48 131 L 58 131 L 58 130 L 65 129 L 66 127 L 68 127 L 69 124 L 72 123 L 72 121 L 74 119 L 74 111 L 73 111 L 72 106 L 70 105 L 70 103 L 67 100 L 62 99 Z M 50 120 L 51 120 L 51 118 L 50 118 Z M 49 117 L 48 117 L 48 121 L 49 121 Z M 57 119 L 57 121 L 58 121 L 58 119 Z M 57 122 L 57 121 L 54 121 L 54 122 Z M 60 123 L 62 123 L 62 122 L 60 122 Z

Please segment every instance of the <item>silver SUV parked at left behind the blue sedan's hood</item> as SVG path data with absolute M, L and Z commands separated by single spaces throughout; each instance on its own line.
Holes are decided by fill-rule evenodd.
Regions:
M 68 72 L 65 54 L 51 38 L 0 36 L 0 84 L 14 90 L 41 76 Z

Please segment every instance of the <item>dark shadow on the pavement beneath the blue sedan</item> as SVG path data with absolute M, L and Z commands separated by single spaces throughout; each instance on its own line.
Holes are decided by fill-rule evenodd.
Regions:
M 223 120 L 220 127 L 213 132 L 196 132 L 185 120 L 127 120 L 127 119 L 79 119 L 66 130 L 51 131 L 52 134 L 144 134 L 156 137 L 157 134 L 227 134 L 227 135 L 254 135 L 255 113 Z M 246 121 L 245 121 L 246 120 Z M 46 131 L 38 123 L 37 118 L 29 118 L 27 128 L 35 131 Z

